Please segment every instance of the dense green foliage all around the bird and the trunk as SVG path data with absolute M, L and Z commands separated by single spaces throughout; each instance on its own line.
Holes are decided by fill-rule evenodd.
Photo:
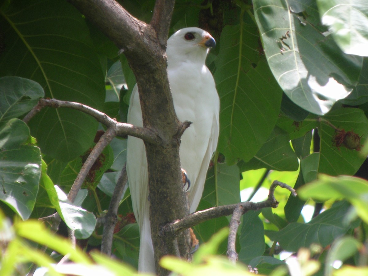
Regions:
M 149 22 L 155 1 L 120 2 Z M 198 209 L 238 203 L 243 190 L 245 201 L 249 188 L 268 190 L 276 179 L 296 188 L 298 197 L 276 190 L 277 209 L 243 216 L 237 249 L 244 267 L 209 256 L 226 253 L 226 230 L 220 230 L 228 226 L 227 217 L 195 227 L 201 244 L 213 238 L 195 253 L 192 265 L 166 258 L 164 266 L 182 275 L 244 275 L 246 265 L 265 275 L 285 275 L 291 272 L 279 253 L 288 251 L 298 257 L 289 262 L 290 271 L 368 273 L 368 182 L 351 177 L 368 153 L 365 2 L 176 1 L 171 33 L 199 26 L 217 41 L 207 61 L 221 101 L 220 137 Z M 22 121 L 39 98 L 55 98 L 124 122 L 134 83 L 124 55 L 66 1 L 0 1 L 0 275 L 24 275 L 32 262 L 59 275 L 50 264 L 67 254 L 79 265 L 71 268 L 75 273 L 87 267 L 93 273 L 134 273 L 79 249 L 99 248 L 97 221 L 124 166 L 126 139 L 114 138 L 107 146 L 71 204 L 66 194 L 103 126 L 77 110 L 52 107 Z M 366 178 L 364 164 L 359 176 Z M 305 222 L 314 206 L 323 212 L 315 210 Z M 55 212 L 61 226 L 74 230 L 76 249 L 47 229 L 47 219 L 43 225 L 35 220 Z M 135 267 L 139 231 L 129 190 L 118 212 L 113 254 Z M 66 228 L 58 233 L 67 236 Z M 37 250 L 38 245 L 48 249 Z M 68 267 L 59 269 L 67 273 Z

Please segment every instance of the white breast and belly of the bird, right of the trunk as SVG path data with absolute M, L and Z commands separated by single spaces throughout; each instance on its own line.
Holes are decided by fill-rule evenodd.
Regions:
M 174 68 L 168 67 L 167 71 L 177 117 L 180 121 L 192 122 L 181 137 L 180 161 L 195 184 L 213 135 L 211 128 L 219 113 L 219 98 L 212 74 L 206 66 L 186 62 Z

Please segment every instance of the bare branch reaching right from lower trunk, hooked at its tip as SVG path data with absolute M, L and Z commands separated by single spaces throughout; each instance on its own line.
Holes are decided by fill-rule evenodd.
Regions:
M 234 213 L 234 210 L 238 206 L 241 206 L 241 208 L 243 208 L 242 215 L 248 212 L 249 210 L 259 210 L 259 209 L 268 208 L 268 207 L 276 208 L 277 205 L 279 204 L 279 202 L 275 199 L 275 196 L 274 196 L 275 188 L 277 186 L 286 188 L 287 190 L 291 191 L 291 194 L 294 197 L 296 196 L 296 192 L 293 188 L 291 188 L 289 185 L 285 183 L 275 180 L 271 184 L 269 194 L 268 194 L 268 199 L 265 201 L 261 201 L 261 202 L 246 201 L 246 202 L 241 202 L 239 204 L 217 206 L 217 207 L 212 207 L 206 210 L 198 211 L 198 212 L 192 213 L 184 217 L 183 219 L 176 220 L 175 222 L 166 224 L 162 228 L 162 231 L 163 233 L 168 232 L 174 235 L 174 234 L 180 233 L 181 231 L 185 229 L 188 229 L 189 227 L 195 226 L 201 222 L 205 222 L 206 220 L 215 219 L 216 217 L 229 216 L 232 213 Z

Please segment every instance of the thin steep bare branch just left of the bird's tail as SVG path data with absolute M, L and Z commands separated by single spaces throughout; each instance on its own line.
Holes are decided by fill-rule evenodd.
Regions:
M 114 228 L 117 222 L 117 210 L 126 183 L 127 183 L 127 170 L 125 164 L 116 182 L 114 193 L 113 196 L 111 197 L 109 205 L 109 210 L 107 211 L 107 214 L 105 216 L 105 223 L 103 225 L 101 252 L 109 256 L 111 255 Z

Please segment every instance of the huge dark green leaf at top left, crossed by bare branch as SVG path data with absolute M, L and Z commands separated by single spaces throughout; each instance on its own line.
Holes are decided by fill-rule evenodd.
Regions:
M 38 82 L 45 96 L 101 108 L 104 76 L 81 14 L 66 1 L 11 1 L 0 10 L 6 49 L 0 75 Z M 97 122 L 70 109 L 47 108 L 30 122 L 42 152 L 71 160 L 91 144 Z

